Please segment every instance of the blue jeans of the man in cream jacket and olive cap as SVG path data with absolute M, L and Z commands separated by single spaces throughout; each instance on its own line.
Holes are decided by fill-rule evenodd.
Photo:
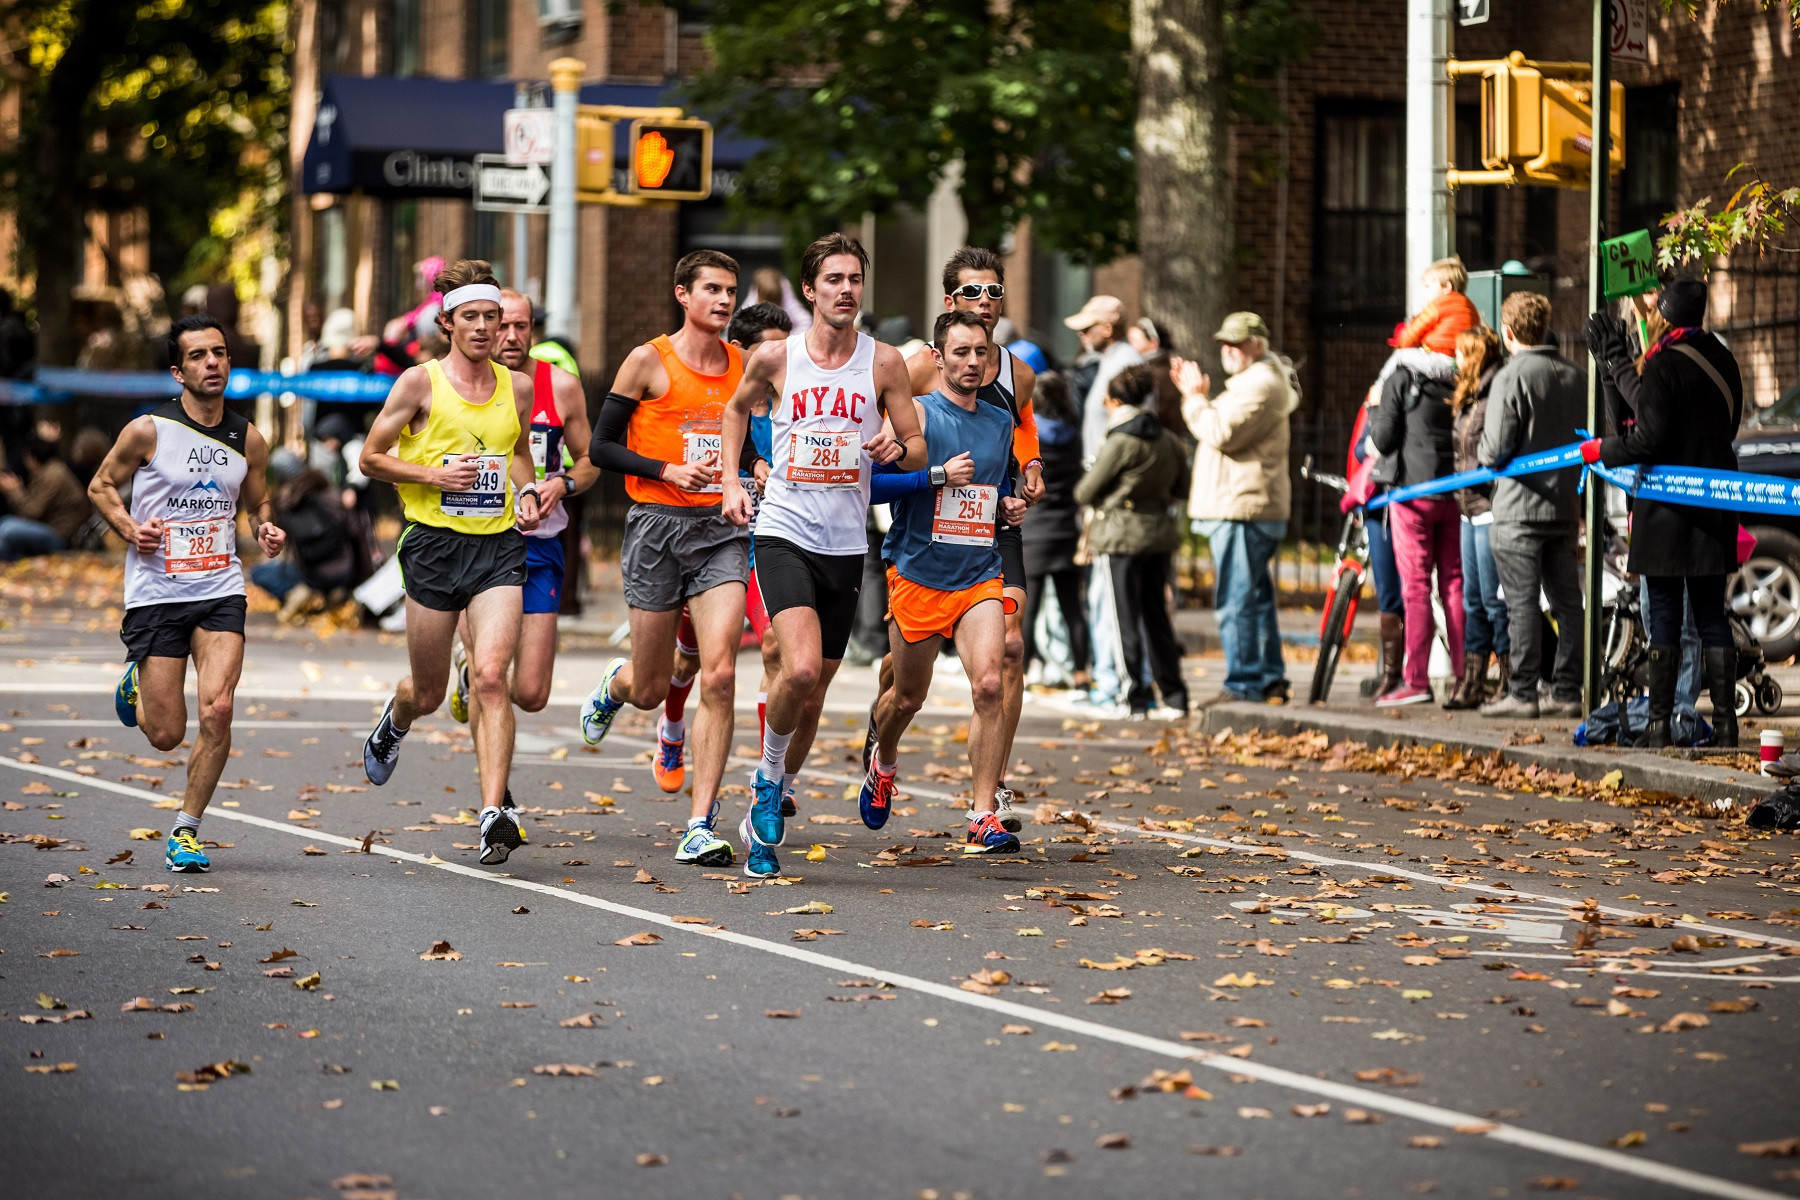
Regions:
M 1238 700 L 1262 700 L 1287 682 L 1269 574 L 1287 522 L 1195 522 L 1195 529 L 1213 547 L 1213 612 L 1226 651 L 1226 691 Z

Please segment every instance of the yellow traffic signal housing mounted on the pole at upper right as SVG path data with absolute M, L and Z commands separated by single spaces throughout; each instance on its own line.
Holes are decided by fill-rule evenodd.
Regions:
M 1453 79 L 1481 77 L 1483 171 L 1447 173 L 1465 184 L 1588 187 L 1593 164 L 1593 83 L 1588 63 L 1534 63 L 1514 50 L 1505 59 L 1449 65 Z M 1625 88 L 1613 83 L 1607 112 L 1607 167 L 1625 169 Z

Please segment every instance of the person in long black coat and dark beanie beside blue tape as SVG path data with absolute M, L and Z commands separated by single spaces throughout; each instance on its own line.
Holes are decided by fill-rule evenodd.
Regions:
M 1643 353 L 1636 419 L 1620 434 L 1582 444 L 1582 459 L 1607 466 L 1699 466 L 1737 470 L 1737 423 L 1744 383 L 1737 360 L 1712 333 L 1706 284 L 1676 279 L 1656 299 L 1667 329 Z M 1699 626 L 1701 669 L 1721 747 L 1737 745 L 1737 651 L 1724 615 L 1724 581 L 1737 570 L 1737 516 L 1724 509 L 1638 498 L 1631 513 L 1627 569 L 1645 576 L 1651 610 L 1649 747 L 1669 745 L 1676 671 L 1681 664 L 1681 599 Z

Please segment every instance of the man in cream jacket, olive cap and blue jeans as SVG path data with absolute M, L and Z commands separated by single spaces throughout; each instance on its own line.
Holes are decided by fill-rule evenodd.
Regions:
M 1285 360 L 1269 353 L 1269 326 L 1256 313 L 1231 313 L 1213 338 L 1229 376 L 1217 398 L 1199 363 L 1177 358 L 1172 372 L 1197 443 L 1188 516 L 1213 549 L 1213 608 L 1226 651 L 1220 698 L 1285 703 L 1269 560 L 1287 536 L 1287 417 L 1300 387 Z

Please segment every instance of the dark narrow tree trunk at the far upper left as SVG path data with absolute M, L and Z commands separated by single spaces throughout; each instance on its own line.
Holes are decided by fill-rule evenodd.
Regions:
M 101 5 L 104 9 L 106 5 Z M 68 40 L 56 70 L 43 90 L 43 119 L 38 122 L 38 214 L 36 228 L 22 228 L 32 239 L 38 266 L 38 362 L 67 367 L 81 345 L 74 327 L 74 290 L 81 270 L 86 230 L 88 185 L 81 178 L 81 155 L 88 146 L 83 122 L 88 97 L 101 79 L 104 43 L 115 14 L 76 5 L 81 25 Z M 20 216 L 25 216 L 23 212 Z

